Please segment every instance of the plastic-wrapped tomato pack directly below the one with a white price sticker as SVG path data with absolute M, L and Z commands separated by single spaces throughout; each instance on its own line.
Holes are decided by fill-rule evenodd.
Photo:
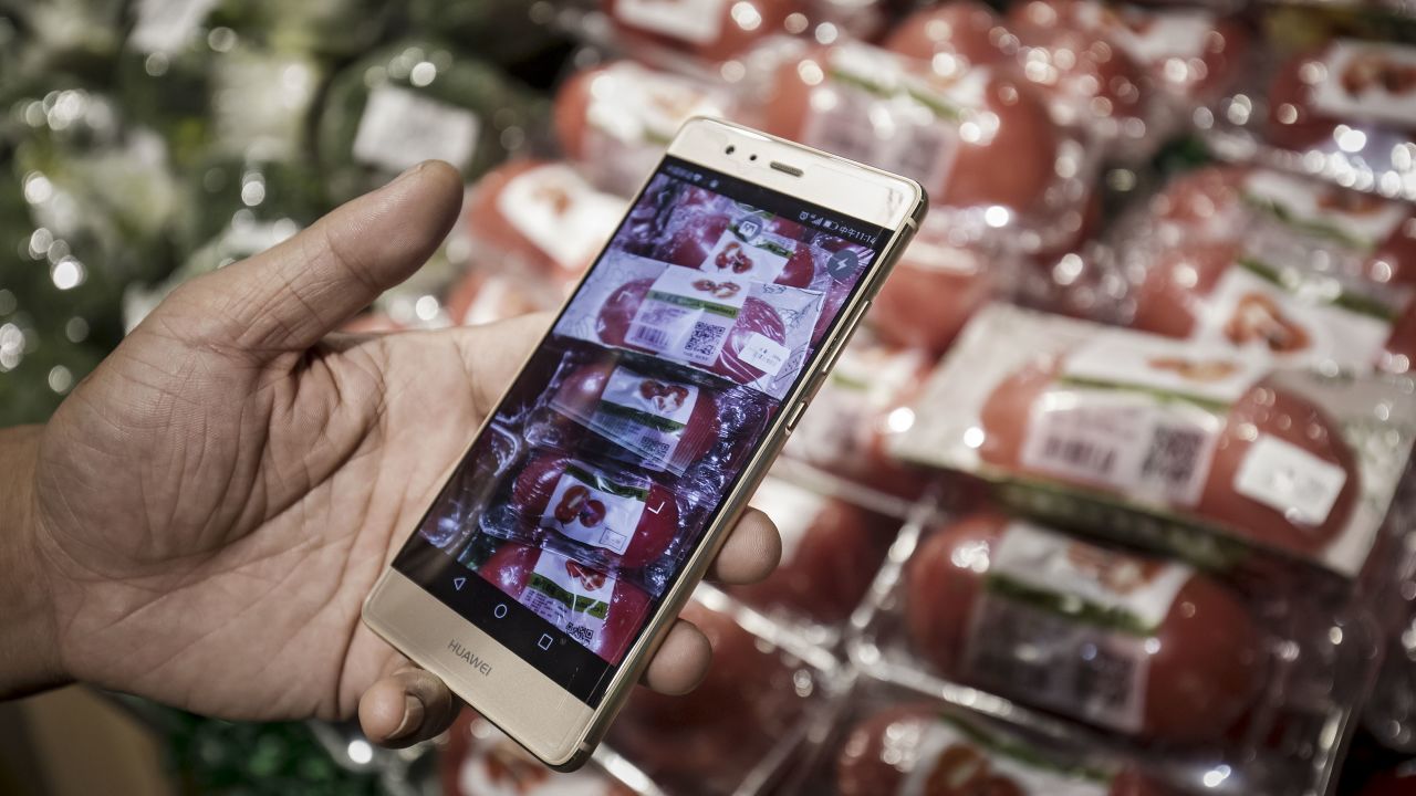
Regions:
M 1245 586 L 997 508 L 942 513 L 902 531 L 850 656 L 910 701 L 1109 759 L 1079 793 L 1324 793 L 1381 633 L 1359 608 Z

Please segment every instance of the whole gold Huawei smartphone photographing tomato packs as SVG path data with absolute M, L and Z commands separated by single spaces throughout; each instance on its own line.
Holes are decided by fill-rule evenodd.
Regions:
M 923 212 L 903 177 L 685 123 L 364 622 L 583 763 Z

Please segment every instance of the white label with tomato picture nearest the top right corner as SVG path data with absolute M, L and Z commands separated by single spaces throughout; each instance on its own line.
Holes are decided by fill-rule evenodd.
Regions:
M 1324 116 L 1402 126 L 1416 119 L 1416 47 L 1340 40 L 1323 67 L 1313 105 Z

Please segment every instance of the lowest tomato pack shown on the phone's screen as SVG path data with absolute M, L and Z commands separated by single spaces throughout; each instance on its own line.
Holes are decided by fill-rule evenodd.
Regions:
M 477 574 L 590 652 L 619 663 L 649 616 L 649 595 L 551 550 L 504 542 Z

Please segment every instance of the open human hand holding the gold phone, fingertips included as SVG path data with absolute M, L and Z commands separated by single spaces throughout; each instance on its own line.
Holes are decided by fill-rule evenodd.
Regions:
M 357 708 L 391 745 L 452 721 L 360 606 L 549 320 L 330 331 L 428 259 L 460 197 L 428 163 L 183 285 L 24 435 L 31 669 L 232 720 Z M 749 511 L 714 575 L 760 579 L 779 552 Z M 709 654 L 680 622 L 646 681 L 685 691 Z

